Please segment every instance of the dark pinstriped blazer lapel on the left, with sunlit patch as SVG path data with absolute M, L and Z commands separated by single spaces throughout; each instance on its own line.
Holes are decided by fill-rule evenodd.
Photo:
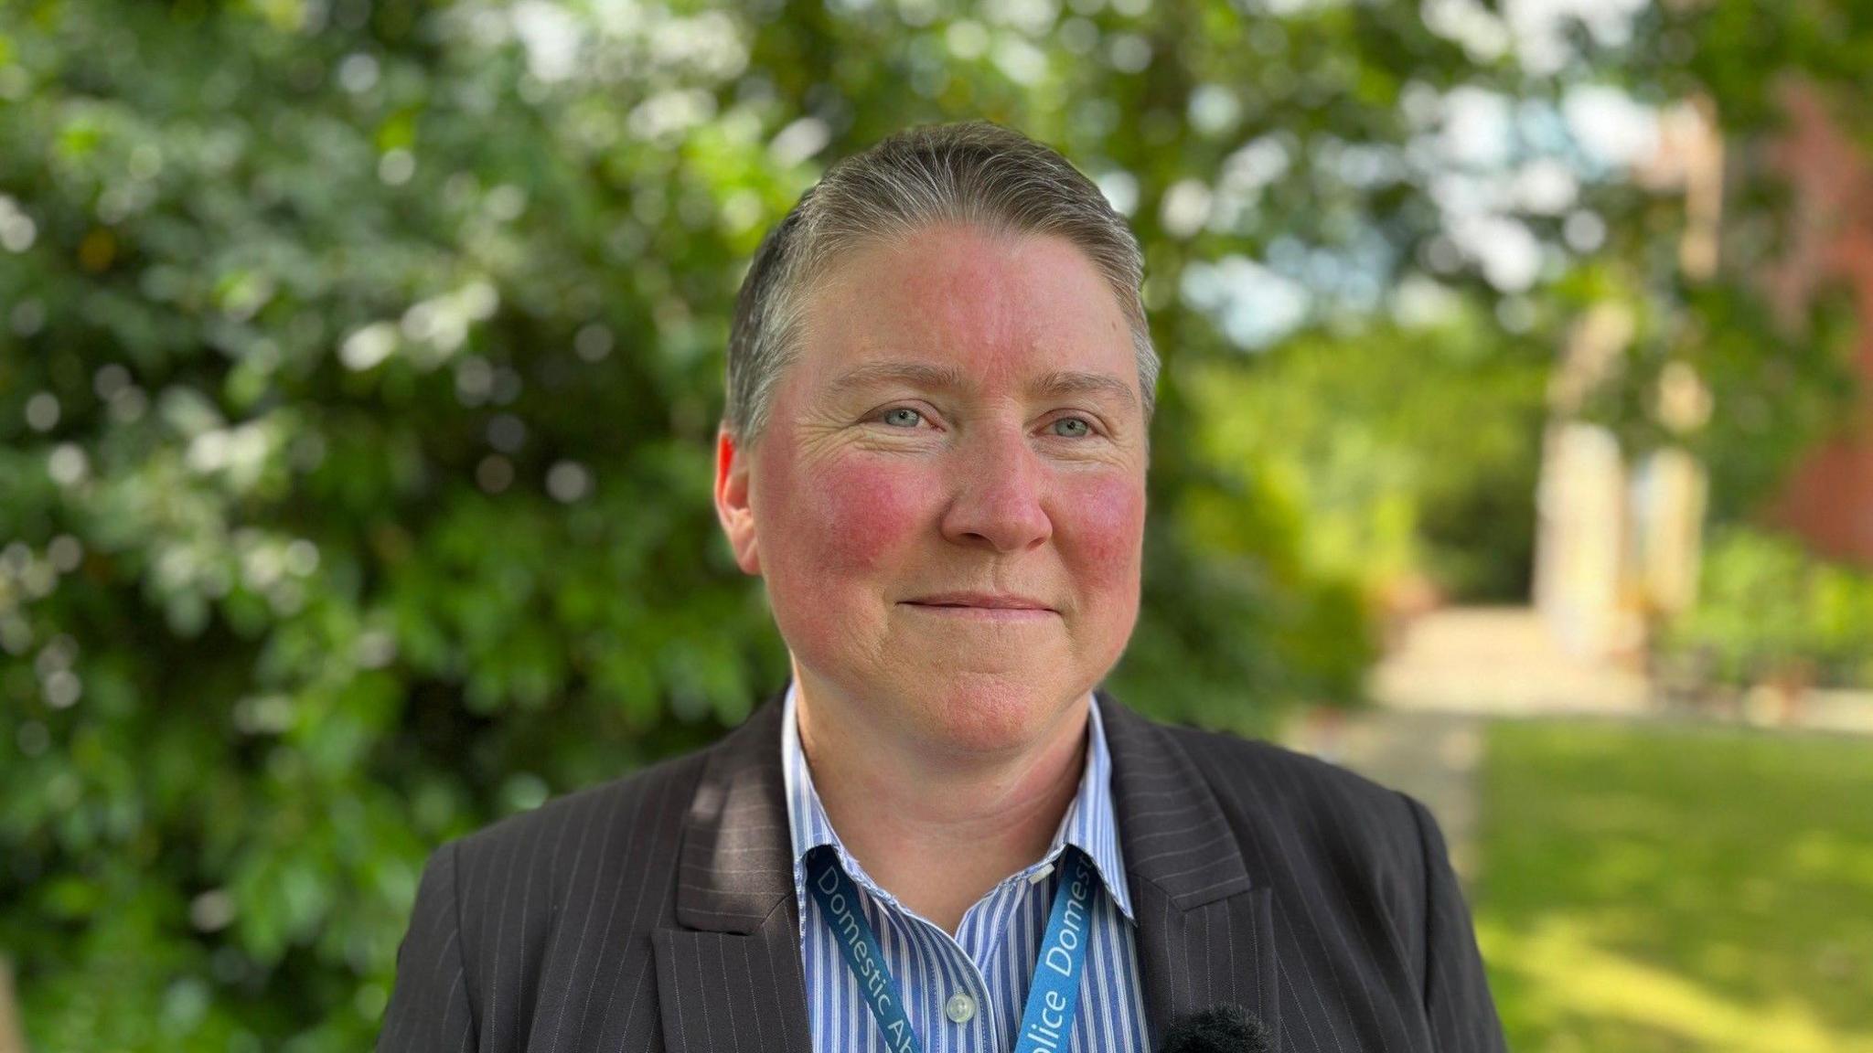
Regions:
M 811 1049 L 781 778 L 783 693 L 712 751 L 684 824 L 676 926 L 652 937 L 671 1053 Z

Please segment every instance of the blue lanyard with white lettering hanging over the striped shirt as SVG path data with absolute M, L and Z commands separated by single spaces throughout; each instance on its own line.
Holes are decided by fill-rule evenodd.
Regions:
M 1079 974 L 1086 963 L 1086 939 L 1092 926 L 1092 864 L 1084 853 L 1071 847 L 1062 853 L 1066 868 L 1060 888 L 1054 890 L 1047 935 L 1041 937 L 1040 959 L 1034 963 L 1034 982 L 1028 986 L 1028 1008 L 1021 1014 L 1015 1053 L 1060 1053 L 1073 1031 L 1073 1010 L 1079 1006 Z M 837 937 L 845 965 L 858 978 L 858 989 L 871 1006 L 878 1031 L 893 1053 L 923 1053 L 905 999 L 884 965 L 871 922 L 858 909 L 858 888 L 839 869 L 830 847 L 819 847 L 807 856 L 807 886 L 820 905 L 820 914 Z

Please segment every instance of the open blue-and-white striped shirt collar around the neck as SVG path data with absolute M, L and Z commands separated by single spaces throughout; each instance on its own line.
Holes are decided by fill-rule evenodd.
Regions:
M 832 845 L 839 856 L 839 866 L 867 894 L 888 901 L 892 907 L 901 907 L 845 851 L 839 834 L 832 828 L 832 821 L 826 819 L 819 791 L 813 789 L 813 772 L 807 766 L 805 749 L 800 748 L 794 691 L 796 684 L 789 682 L 787 701 L 781 708 L 781 772 L 787 781 L 787 826 L 792 832 L 794 894 L 800 899 L 802 924 L 805 918 L 805 856 L 820 845 Z M 1107 896 L 1113 897 L 1113 903 L 1126 920 L 1137 924 L 1137 918 L 1131 916 L 1131 892 L 1126 886 L 1126 868 L 1118 854 L 1118 813 L 1113 808 L 1113 757 L 1105 746 L 1105 723 L 1099 718 L 1098 695 L 1092 697 L 1086 708 L 1086 764 L 1081 770 L 1079 793 L 1073 794 L 1066 815 L 1060 817 L 1060 828 L 1054 830 L 1047 854 L 1034 866 L 1010 875 L 1008 881 L 1040 881 L 1053 868 L 1054 860 L 1060 858 L 1060 853 L 1066 851 L 1066 845 L 1073 845 L 1092 860 L 1099 881 L 1105 882 Z

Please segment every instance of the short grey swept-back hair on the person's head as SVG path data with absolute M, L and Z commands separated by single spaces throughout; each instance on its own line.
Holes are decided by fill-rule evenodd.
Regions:
M 807 294 L 830 264 L 869 244 L 908 240 L 933 223 L 1053 234 L 1079 247 L 1131 328 L 1150 422 L 1158 350 L 1139 298 L 1144 253 L 1137 236 L 1066 157 L 976 120 L 910 127 L 837 161 L 768 230 L 742 279 L 729 330 L 723 427 L 736 444 L 760 438 L 781 371 L 800 350 Z

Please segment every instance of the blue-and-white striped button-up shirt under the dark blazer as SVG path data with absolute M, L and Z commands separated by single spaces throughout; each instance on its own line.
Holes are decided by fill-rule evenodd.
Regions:
M 1034 980 L 1034 961 L 1047 911 L 1073 845 L 1099 873 L 1090 911 L 1086 971 L 1073 1017 L 1071 1053 L 1141 1053 L 1146 1049 L 1144 991 L 1139 986 L 1137 920 L 1118 854 L 1111 755 L 1098 699 L 1090 704 L 1086 766 L 1053 845 L 1040 862 L 989 890 L 963 914 L 955 937 L 899 903 L 858 866 L 839 841 L 800 748 L 794 686 L 787 688 L 781 757 L 787 774 L 787 823 L 792 830 L 794 896 L 800 901 L 800 956 L 805 967 L 807 1017 L 815 1053 L 886 1053 L 884 1034 L 839 956 L 819 899 L 807 896 L 805 856 L 832 845 L 858 886 L 860 909 L 878 935 L 884 963 L 903 989 L 910 1027 L 925 1053 L 1010 1053 Z M 1062 1053 L 1068 1053 L 1062 1051 Z

